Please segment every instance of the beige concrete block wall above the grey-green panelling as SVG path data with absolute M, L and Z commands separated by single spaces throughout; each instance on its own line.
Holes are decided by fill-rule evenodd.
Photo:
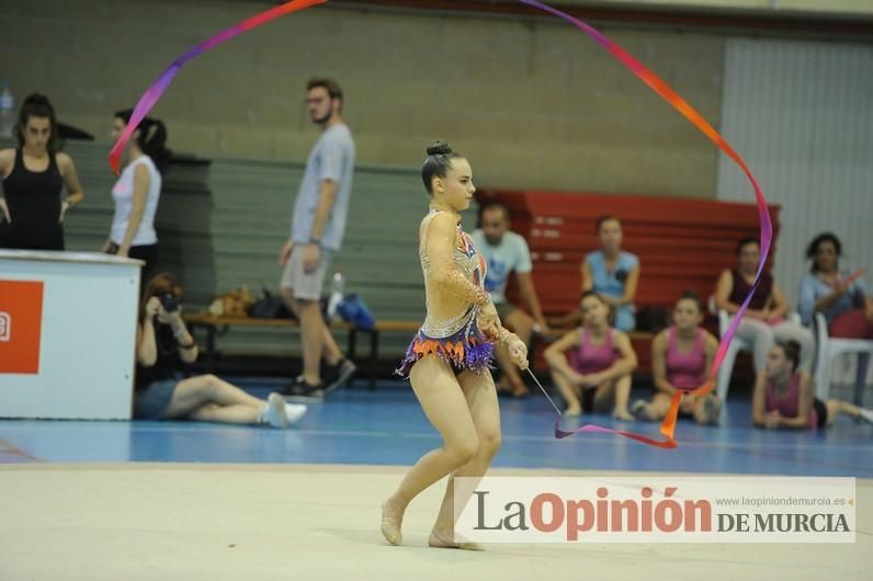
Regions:
M 67 123 L 109 140 L 179 54 L 268 8 L 218 0 L 3 0 L 0 78 L 47 93 Z M 606 34 L 717 126 L 723 36 Z M 714 197 L 714 147 L 602 48 L 558 20 L 331 7 L 273 22 L 190 62 L 155 111 L 170 146 L 303 160 L 303 106 L 335 76 L 362 162 L 416 167 L 427 143 L 466 153 L 479 185 Z

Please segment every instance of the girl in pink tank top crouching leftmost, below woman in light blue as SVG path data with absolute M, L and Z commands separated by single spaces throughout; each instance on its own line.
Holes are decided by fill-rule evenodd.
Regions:
M 612 409 L 614 418 L 633 421 L 627 398 L 637 362 L 631 340 L 610 326 L 609 304 L 593 290 L 582 294 L 581 311 L 582 327 L 545 351 L 552 379 L 567 401 L 565 414 Z

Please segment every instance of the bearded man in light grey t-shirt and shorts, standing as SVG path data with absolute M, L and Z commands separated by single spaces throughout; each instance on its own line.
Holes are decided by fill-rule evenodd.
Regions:
M 313 79 L 306 104 L 321 136 L 309 152 L 291 236 L 280 254 L 282 297 L 301 321 L 303 374 L 285 390 L 288 396 L 320 396 L 354 374 L 321 317 L 321 288 L 333 252 L 340 249 L 352 192 L 354 141 L 342 122 L 342 89 L 331 79 Z M 328 369 L 321 378 L 321 360 Z

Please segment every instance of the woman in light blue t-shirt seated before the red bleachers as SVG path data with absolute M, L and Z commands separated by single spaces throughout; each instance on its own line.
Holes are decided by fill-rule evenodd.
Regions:
M 622 223 L 614 216 L 597 220 L 600 250 L 586 255 L 581 264 L 582 292 L 593 290 L 612 307 L 615 329 L 633 331 L 636 327 L 636 297 L 639 284 L 639 259 L 622 250 Z M 556 327 L 579 322 L 579 312 L 572 311 L 553 320 Z

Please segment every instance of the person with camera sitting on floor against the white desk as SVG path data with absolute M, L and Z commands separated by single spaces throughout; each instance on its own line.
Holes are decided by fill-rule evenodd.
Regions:
M 135 419 L 287 428 L 306 413 L 306 406 L 285 403 L 279 394 L 264 401 L 214 375 L 179 379 L 179 368 L 197 358 L 197 345 L 182 320 L 181 297 L 182 287 L 169 274 L 146 285 L 136 337 Z

